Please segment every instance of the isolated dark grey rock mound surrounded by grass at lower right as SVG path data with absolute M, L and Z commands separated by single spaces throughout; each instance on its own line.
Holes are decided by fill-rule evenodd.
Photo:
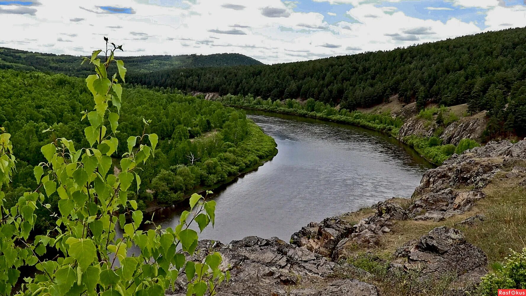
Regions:
M 468 243 L 462 232 L 454 228 L 437 227 L 398 248 L 395 256 L 399 258 L 396 266 L 420 272 L 421 279 L 454 274 L 457 284 L 469 285 L 480 282 L 488 272 L 484 252 Z

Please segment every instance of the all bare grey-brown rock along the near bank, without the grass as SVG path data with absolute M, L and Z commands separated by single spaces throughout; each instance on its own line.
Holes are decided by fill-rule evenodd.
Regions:
M 247 237 L 229 244 L 201 241 L 191 257 L 203 260 L 209 252 L 219 252 L 222 266 L 230 266 L 231 281 L 223 284 L 218 295 L 291 295 L 291 296 L 375 296 L 380 291 L 358 280 L 368 272 L 347 263 L 357 248 L 378 248 L 393 234 L 398 222 L 442 221 L 469 211 L 485 198 L 482 189 L 501 171 L 506 178 L 518 178 L 526 186 L 526 140 L 490 142 L 484 147 L 454 155 L 444 165 L 428 170 L 411 200 L 403 205 L 388 200 L 379 202 L 353 222 L 356 213 L 326 218 L 292 234 L 290 244 L 278 238 Z M 403 206 L 402 206 L 403 205 Z M 484 220 L 470 217 L 459 224 Z M 385 277 L 407 277 L 417 282 L 453 277 L 448 294 L 463 295 L 468 287 L 488 272 L 484 252 L 452 227 L 436 227 L 419 238 L 400 242 L 392 252 Z M 176 291 L 185 295 L 186 277 L 178 279 Z

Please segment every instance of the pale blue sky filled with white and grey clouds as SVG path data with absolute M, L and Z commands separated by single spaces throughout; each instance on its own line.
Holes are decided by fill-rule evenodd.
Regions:
M 266 64 L 526 26 L 526 0 L 0 0 L 0 47 L 88 55 L 240 53 Z

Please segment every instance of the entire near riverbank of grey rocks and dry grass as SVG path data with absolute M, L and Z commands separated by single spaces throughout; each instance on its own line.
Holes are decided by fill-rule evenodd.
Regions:
M 231 295 L 490 296 L 524 283 L 501 273 L 526 247 L 524 202 L 526 140 L 490 142 L 428 170 L 411 199 L 309 223 L 290 244 L 200 241 L 198 256 L 221 253 L 232 281 L 218 292 Z

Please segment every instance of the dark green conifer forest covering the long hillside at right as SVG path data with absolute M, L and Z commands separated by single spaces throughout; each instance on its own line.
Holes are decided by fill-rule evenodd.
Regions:
M 404 103 L 469 104 L 488 110 L 494 134 L 526 134 L 526 28 L 390 51 L 276 65 L 188 68 L 131 74 L 129 82 L 264 100 L 313 98 L 354 110 L 398 94 Z

